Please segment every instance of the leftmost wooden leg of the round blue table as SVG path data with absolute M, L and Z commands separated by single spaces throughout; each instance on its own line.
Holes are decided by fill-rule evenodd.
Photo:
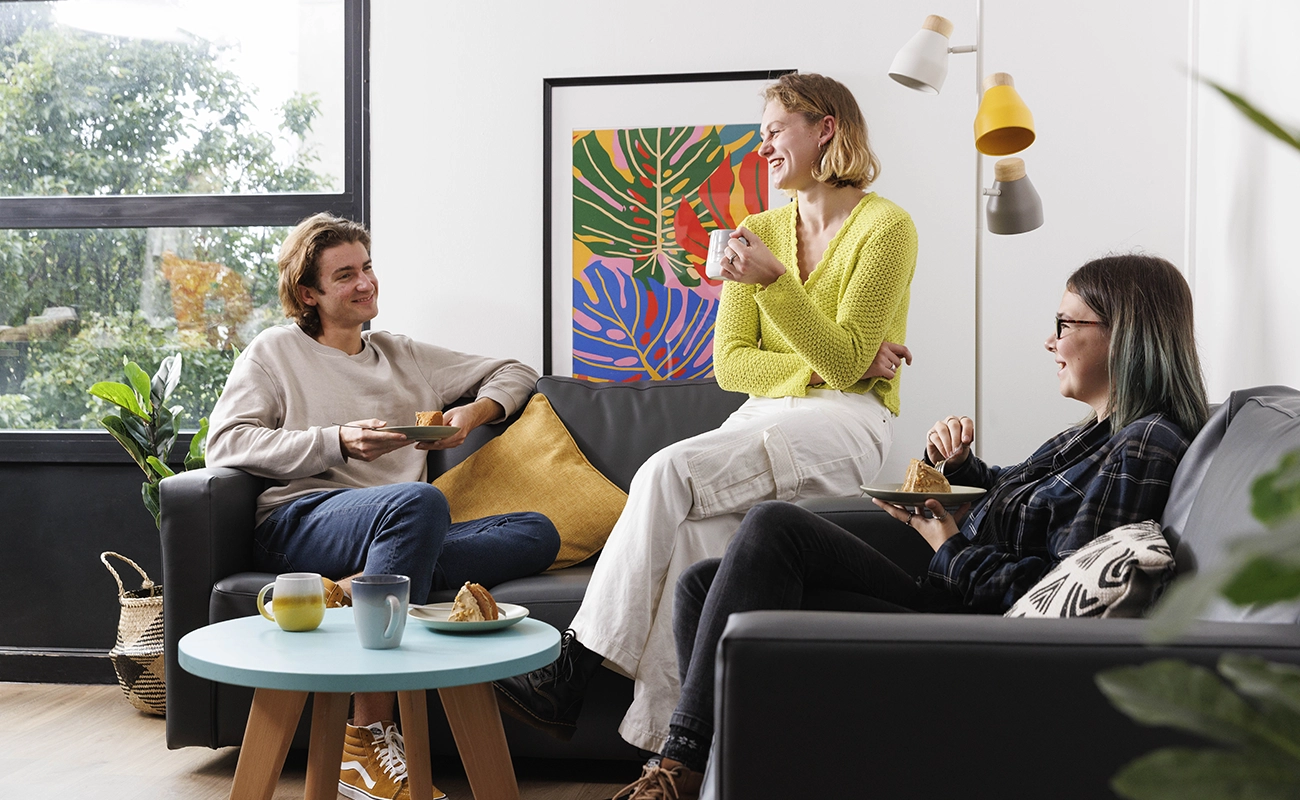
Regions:
M 230 800 L 270 800 L 306 704 L 307 692 L 254 692 Z

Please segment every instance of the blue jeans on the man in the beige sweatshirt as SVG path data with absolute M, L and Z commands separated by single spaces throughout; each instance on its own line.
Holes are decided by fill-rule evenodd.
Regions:
M 451 524 L 447 500 L 422 483 L 334 489 L 272 511 L 254 533 L 254 563 L 268 572 L 358 572 L 411 578 L 411 602 L 467 580 L 494 587 L 541 572 L 559 553 L 546 516 L 500 514 Z

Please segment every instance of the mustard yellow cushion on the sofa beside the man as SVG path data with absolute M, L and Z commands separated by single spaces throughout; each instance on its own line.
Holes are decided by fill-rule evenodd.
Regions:
M 627 493 L 586 460 L 542 394 L 506 432 L 433 481 L 451 506 L 451 522 L 538 511 L 560 533 L 551 570 L 604 546 Z

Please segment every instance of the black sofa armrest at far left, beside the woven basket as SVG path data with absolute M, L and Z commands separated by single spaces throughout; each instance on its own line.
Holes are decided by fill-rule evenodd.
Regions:
M 240 470 L 191 470 L 160 484 L 162 626 L 169 748 L 218 747 L 212 684 L 177 661 L 177 643 L 208 624 L 212 585 L 252 567 L 252 529 L 265 481 Z

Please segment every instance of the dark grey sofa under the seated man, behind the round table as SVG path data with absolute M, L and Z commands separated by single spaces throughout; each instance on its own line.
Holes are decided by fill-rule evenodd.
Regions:
M 537 390 L 547 397 L 592 464 L 624 490 L 646 458 L 675 441 L 716 428 L 745 399 L 714 381 L 593 384 L 543 377 Z M 512 421 L 478 428 L 455 450 L 432 450 L 430 477 L 460 463 Z M 217 748 L 239 744 L 243 738 L 252 689 L 190 675 L 177 663 L 177 641 L 212 622 L 257 613 L 257 591 L 274 580 L 274 575 L 252 570 L 254 509 L 263 487 L 260 479 L 230 468 L 196 470 L 162 481 L 169 748 Z M 577 611 L 592 568 L 592 563 L 582 563 L 512 580 L 493 587 L 493 594 L 524 605 L 532 617 L 564 630 Z M 451 593 L 432 600 L 451 600 Z M 507 718 L 511 753 L 640 760 L 642 753 L 618 735 L 618 723 L 630 701 L 632 682 L 601 670 L 572 741 L 560 743 Z M 429 705 L 434 752 L 454 753 L 437 692 L 429 693 Z M 306 747 L 306 731 L 304 721 L 295 739 L 299 747 Z

